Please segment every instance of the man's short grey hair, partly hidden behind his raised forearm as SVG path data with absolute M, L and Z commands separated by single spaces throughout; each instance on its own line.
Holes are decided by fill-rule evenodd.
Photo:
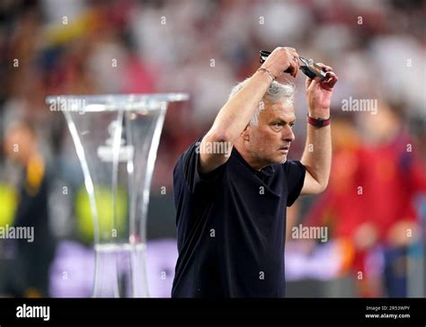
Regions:
M 240 91 L 245 84 L 250 80 L 246 78 L 243 82 L 236 84 L 229 94 L 229 99 L 232 99 L 238 91 Z M 259 102 L 252 119 L 250 119 L 250 125 L 257 126 L 259 124 L 259 114 L 261 110 L 264 109 L 263 100 L 269 100 L 271 102 L 280 102 L 282 100 L 286 100 L 286 105 L 292 105 L 294 101 L 294 93 L 295 86 L 293 84 L 280 84 L 276 81 L 273 81 L 271 86 L 266 91 L 265 95 L 263 95 L 262 101 Z

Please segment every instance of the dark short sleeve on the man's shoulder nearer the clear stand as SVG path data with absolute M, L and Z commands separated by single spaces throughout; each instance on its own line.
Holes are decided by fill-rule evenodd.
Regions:
M 201 186 L 212 186 L 217 183 L 224 171 L 225 164 L 217 167 L 214 171 L 209 173 L 200 173 L 200 143 L 201 138 L 197 142 L 191 144 L 188 149 L 182 154 L 179 159 L 182 169 L 182 177 L 188 188 L 194 193 Z

